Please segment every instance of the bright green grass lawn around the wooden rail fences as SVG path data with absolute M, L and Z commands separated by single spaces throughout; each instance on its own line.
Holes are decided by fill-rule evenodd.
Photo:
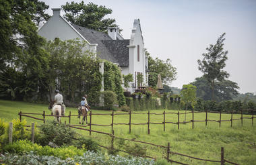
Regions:
M 19 117 L 18 112 L 20 111 L 33 113 L 42 113 L 42 111 L 46 111 L 46 114 L 51 114 L 51 111 L 48 110 L 48 105 L 0 100 L 0 118 L 5 119 L 5 122 L 9 122 L 11 119 Z M 77 109 L 74 108 L 67 108 L 65 114 L 68 115 L 69 111 L 71 111 L 71 115 L 77 114 Z M 163 110 L 156 110 L 150 112 L 162 113 L 162 111 Z M 183 112 L 184 111 L 180 111 L 180 113 Z M 92 110 L 92 113 L 111 113 L 111 111 Z M 230 114 L 222 114 L 222 119 L 230 119 L 230 116 Z M 249 116 L 250 115 L 243 115 L 243 117 Z M 42 118 L 40 115 L 37 117 Z M 218 120 L 219 117 L 219 114 L 208 113 L 207 118 Z M 239 114 L 233 115 L 234 119 L 238 119 L 239 117 L 241 117 Z M 88 117 L 88 121 L 89 118 L 90 117 Z M 22 117 L 22 119 L 26 119 L 28 124 L 32 122 L 37 122 L 38 124 L 42 123 L 42 121 L 36 121 L 35 119 L 28 117 Z M 191 119 L 192 117 L 190 113 L 187 115 L 187 121 L 190 121 Z M 205 113 L 195 113 L 194 119 L 204 120 Z M 47 120 L 53 120 L 53 117 L 46 117 L 46 122 Z M 66 120 L 67 123 L 69 122 L 68 118 L 62 119 L 62 121 L 63 120 Z M 184 115 L 181 115 L 180 121 L 183 120 Z M 163 115 L 150 115 L 150 122 L 162 121 Z M 166 121 L 177 122 L 177 115 L 166 114 Z M 147 123 L 148 115 L 132 114 L 131 122 Z M 71 124 L 77 123 L 77 117 L 72 117 Z M 111 116 L 93 115 L 92 123 L 110 124 Z M 114 123 L 129 123 L 129 115 L 115 115 Z M 99 127 L 94 125 L 92 126 L 92 129 L 108 133 L 111 131 L 110 127 Z M 131 134 L 129 134 L 129 125 L 114 125 L 114 130 L 117 137 L 125 137 L 129 139 L 135 138 L 136 140 L 163 146 L 167 146 L 168 142 L 170 142 L 170 150 L 172 152 L 179 152 L 197 158 L 220 160 L 220 148 L 224 147 L 224 158 L 226 160 L 238 164 L 256 164 L 256 123 L 252 126 L 251 119 L 243 119 L 243 126 L 241 125 L 240 120 L 233 121 L 233 127 L 230 127 L 230 121 L 222 122 L 221 127 L 219 127 L 219 123 L 216 122 L 207 122 L 207 127 L 205 127 L 205 122 L 195 122 L 194 129 L 192 129 L 192 123 L 181 124 L 180 129 L 177 128 L 177 125 L 166 123 L 166 131 L 163 131 L 163 125 L 150 124 L 150 135 L 148 135 L 148 125 L 131 125 Z M 77 131 L 83 136 L 89 135 L 88 131 Z M 110 146 L 110 137 L 107 135 L 92 133 L 92 137 L 99 144 Z M 117 143 L 117 140 L 115 142 Z M 161 158 L 166 155 L 166 150 L 154 146 L 145 146 L 147 148 L 147 155 L 149 156 Z M 183 156 L 171 155 L 171 158 L 187 164 L 219 164 L 192 160 Z

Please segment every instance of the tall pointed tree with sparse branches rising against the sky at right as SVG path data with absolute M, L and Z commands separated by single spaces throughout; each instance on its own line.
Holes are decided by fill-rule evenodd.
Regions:
M 215 45 L 210 44 L 206 48 L 207 53 L 202 54 L 203 60 L 197 60 L 199 64 L 199 70 L 203 72 L 203 76 L 210 83 L 212 89 L 212 100 L 214 100 L 214 87 L 216 80 L 224 80 L 228 78 L 228 72 L 224 71 L 223 68 L 226 66 L 226 60 L 228 57 L 228 51 L 224 51 L 224 38 L 225 33 L 218 38 Z

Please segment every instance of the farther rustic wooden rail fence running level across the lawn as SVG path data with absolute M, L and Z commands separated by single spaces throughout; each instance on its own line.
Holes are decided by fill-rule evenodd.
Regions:
M 243 117 L 243 112 L 247 111 L 247 115 L 248 113 L 251 113 L 251 117 Z M 112 113 L 92 113 L 92 111 L 90 111 L 90 113 L 87 116 L 90 117 L 90 121 L 88 123 L 88 125 L 83 125 L 84 127 L 90 127 L 90 129 L 92 129 L 92 125 L 95 126 L 102 126 L 102 127 L 107 127 L 110 126 L 111 127 L 111 131 L 114 130 L 114 125 L 129 125 L 129 133 L 131 133 L 131 125 L 148 125 L 148 134 L 150 134 L 150 124 L 158 124 L 158 125 L 163 125 L 163 130 L 166 130 L 166 124 L 174 124 L 177 125 L 178 129 L 180 129 L 180 125 L 183 123 L 192 123 L 192 129 L 195 127 L 195 122 L 205 122 L 205 126 L 207 126 L 207 123 L 212 121 L 212 122 L 217 122 L 219 123 L 219 126 L 221 127 L 221 123 L 222 122 L 230 122 L 230 127 L 233 126 L 233 121 L 237 121 L 237 120 L 241 120 L 241 125 L 243 125 L 243 119 L 251 119 L 251 124 L 253 125 L 253 119 L 254 117 L 254 109 L 242 109 L 241 111 L 230 111 L 230 113 L 227 112 L 216 112 L 216 111 L 190 111 L 187 113 L 180 113 L 178 111 L 178 113 L 174 113 L 174 112 L 166 112 L 163 111 L 163 113 L 150 113 L 150 111 L 148 112 L 131 112 L 129 111 L 128 113 L 115 113 L 114 111 L 112 111 Z M 195 113 L 205 113 L 205 120 L 195 120 Z M 218 113 L 220 114 L 219 116 L 219 120 L 213 120 L 213 119 L 208 119 L 208 113 Z M 226 113 L 226 114 L 230 114 L 230 119 L 222 119 L 222 115 Z M 239 118 L 234 118 L 233 114 L 241 114 L 241 117 Z M 136 115 L 136 114 L 145 114 L 148 116 L 148 122 L 147 123 L 132 123 L 131 120 L 131 115 Z M 173 114 L 173 115 L 177 115 L 177 122 L 173 122 L 173 121 L 168 121 L 166 119 L 166 114 Z M 180 121 L 181 115 L 187 115 L 187 114 L 191 114 L 191 120 L 190 121 Z M 22 121 L 22 116 L 24 117 L 30 117 L 33 119 L 37 119 L 40 121 L 43 121 L 45 123 L 45 117 L 47 116 L 59 116 L 59 117 L 67 117 L 69 118 L 69 125 L 71 124 L 71 117 L 77 117 L 79 115 L 71 115 L 71 111 L 69 111 L 69 115 L 67 116 L 62 116 L 62 115 L 46 115 L 45 111 L 43 111 L 43 113 L 22 113 L 22 111 L 20 111 L 20 113 L 18 113 L 18 115 L 20 115 L 20 121 Z M 38 118 L 38 117 L 33 117 L 32 115 L 41 115 L 42 119 Z M 111 123 L 110 124 L 106 124 L 106 125 L 102 125 L 99 123 L 92 123 L 92 115 L 110 115 L 111 116 Z M 117 115 L 129 115 L 129 123 L 114 123 L 114 118 Z M 150 122 L 150 116 L 151 115 L 162 115 L 162 122 Z M 78 125 L 73 125 L 73 126 L 78 126 Z M 82 125 L 79 125 L 82 126 Z M 91 131 L 90 131 L 91 134 Z

